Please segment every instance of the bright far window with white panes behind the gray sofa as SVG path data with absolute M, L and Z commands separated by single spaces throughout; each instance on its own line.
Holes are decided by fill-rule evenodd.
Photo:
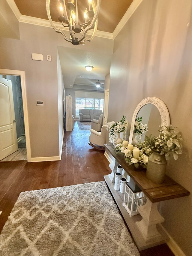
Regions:
M 104 99 L 75 98 L 75 117 L 79 117 L 79 109 L 100 109 L 103 111 Z

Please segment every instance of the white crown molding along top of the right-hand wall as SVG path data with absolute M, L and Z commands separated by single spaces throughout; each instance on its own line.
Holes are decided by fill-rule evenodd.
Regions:
M 127 9 L 126 13 L 120 20 L 119 24 L 116 26 L 115 30 L 113 31 L 113 38 L 115 39 L 116 36 L 119 34 L 119 32 L 122 30 L 122 28 L 125 26 L 127 21 L 131 18 L 132 14 L 135 12 L 135 10 L 139 7 L 140 3 L 143 0 L 134 0 L 130 7 Z

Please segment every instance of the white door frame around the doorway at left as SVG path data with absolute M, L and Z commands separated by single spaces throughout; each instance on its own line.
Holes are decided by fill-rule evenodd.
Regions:
M 25 71 L 11 70 L 11 69 L 1 69 L 0 68 L 0 74 L 2 74 L 2 75 L 11 75 L 11 76 L 20 76 L 22 101 L 23 101 L 25 136 L 26 136 L 27 161 L 31 162 L 31 143 L 30 143 L 30 137 L 29 137 L 29 118 L 28 118 L 28 109 L 27 109 Z

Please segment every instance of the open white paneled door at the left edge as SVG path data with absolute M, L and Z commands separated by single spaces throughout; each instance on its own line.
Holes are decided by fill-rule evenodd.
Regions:
M 12 84 L 0 78 L 0 160 L 17 150 Z

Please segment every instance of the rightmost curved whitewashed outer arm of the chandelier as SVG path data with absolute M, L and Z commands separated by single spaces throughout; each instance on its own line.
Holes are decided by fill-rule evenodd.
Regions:
M 80 37 L 80 38 L 78 38 L 78 42 L 81 42 L 82 40 L 84 40 L 85 39 L 85 34 L 87 33 L 87 31 L 89 31 L 90 29 L 92 29 L 92 26 L 93 26 L 93 24 L 95 23 L 95 25 L 94 25 L 94 32 L 93 32 L 93 35 L 95 36 L 95 33 L 96 33 L 96 29 L 97 29 L 97 17 L 98 17 L 98 14 L 99 14 L 99 9 L 100 9 L 100 5 L 101 5 L 101 0 L 98 0 L 97 1 L 97 7 L 95 8 L 95 3 L 92 1 L 92 3 L 91 3 L 91 5 L 92 5 L 92 7 L 93 7 L 93 11 L 95 12 L 95 15 L 94 15 L 94 17 L 93 17 L 93 19 L 92 19 L 92 21 L 91 21 L 91 24 L 89 25 L 89 26 L 87 26 L 85 29 L 84 29 L 84 31 L 83 31 L 83 33 L 82 33 L 82 36 Z M 94 36 L 91 36 L 91 39 L 90 38 L 88 38 L 87 40 L 89 41 L 91 41 L 93 38 L 94 38 Z M 85 40 L 85 41 L 87 41 L 87 40 Z

